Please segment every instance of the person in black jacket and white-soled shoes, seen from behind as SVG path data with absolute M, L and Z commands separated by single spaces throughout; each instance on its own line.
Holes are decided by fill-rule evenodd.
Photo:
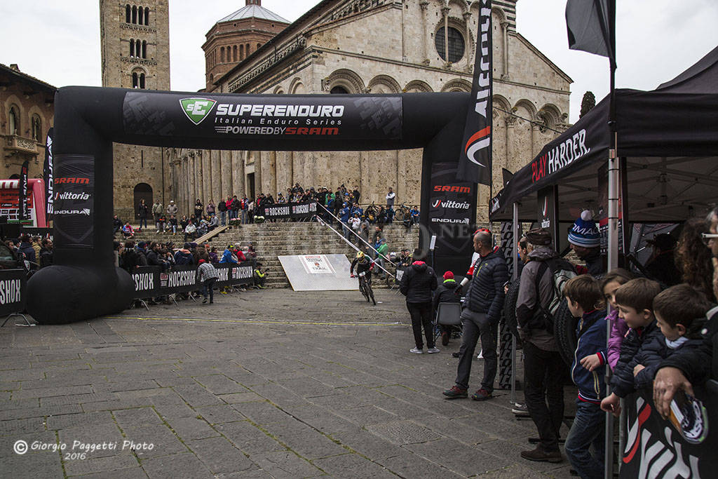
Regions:
M 411 327 L 414 329 L 416 348 L 411 353 L 424 353 L 424 340 L 421 338 L 421 326 L 424 326 L 426 335 L 426 352 L 438 353 L 434 345 L 434 330 L 432 328 L 432 291 L 437 289 L 437 275 L 434 269 L 421 261 L 421 250 L 414 250 L 414 263 L 404 271 L 399 282 L 399 291 L 406 296 L 406 309 L 411 315 Z

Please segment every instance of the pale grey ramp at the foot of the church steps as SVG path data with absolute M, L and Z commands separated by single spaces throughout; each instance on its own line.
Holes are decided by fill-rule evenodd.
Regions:
M 349 277 L 351 264 L 343 254 L 279 256 L 294 291 L 352 291 L 359 289 Z

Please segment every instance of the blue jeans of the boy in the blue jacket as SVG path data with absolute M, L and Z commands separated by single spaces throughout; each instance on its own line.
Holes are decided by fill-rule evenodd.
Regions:
M 576 417 L 566 438 L 566 455 L 582 479 L 603 478 L 605 420 L 601 406 L 576 400 Z M 593 454 L 589 450 L 591 445 Z

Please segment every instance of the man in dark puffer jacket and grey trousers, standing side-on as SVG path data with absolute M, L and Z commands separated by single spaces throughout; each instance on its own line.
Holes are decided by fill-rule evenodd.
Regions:
M 479 337 L 484 355 L 484 377 L 481 389 L 472 394 L 471 399 L 491 399 L 498 368 L 496 335 L 503 310 L 503 285 L 508 281 L 508 268 L 503 251 L 493 247 L 490 232 L 479 231 L 475 234 L 474 251 L 479 254 L 479 259 L 474 267 L 474 276 L 466 292 L 465 308 L 461 314 L 464 335 L 459 351 L 456 385 L 444 391 L 447 399 L 467 397 L 471 363 Z

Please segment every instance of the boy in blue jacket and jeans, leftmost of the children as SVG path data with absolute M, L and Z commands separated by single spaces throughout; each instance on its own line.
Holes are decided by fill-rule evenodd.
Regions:
M 583 479 L 603 478 L 603 429 L 605 414 L 601 399 L 606 395 L 604 381 L 606 350 L 606 310 L 599 283 L 589 274 L 569 280 L 564 287 L 569 310 L 578 322 L 577 346 L 571 378 L 578 386 L 576 417 L 566 438 L 566 455 Z M 591 445 L 594 454 L 591 454 Z

